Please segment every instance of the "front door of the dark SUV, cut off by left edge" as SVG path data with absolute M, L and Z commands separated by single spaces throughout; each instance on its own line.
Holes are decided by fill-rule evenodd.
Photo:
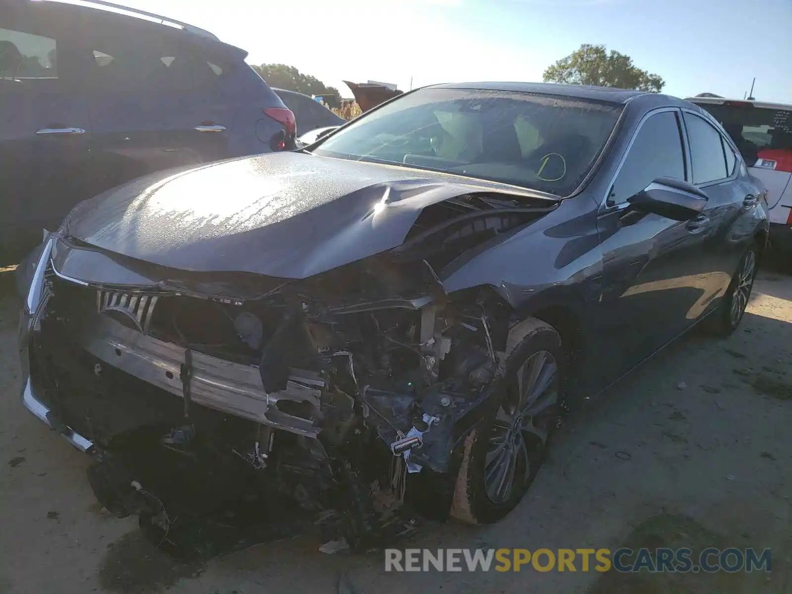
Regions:
M 0 242 L 25 249 L 87 197 L 89 115 L 70 40 L 27 10 L 0 17 Z

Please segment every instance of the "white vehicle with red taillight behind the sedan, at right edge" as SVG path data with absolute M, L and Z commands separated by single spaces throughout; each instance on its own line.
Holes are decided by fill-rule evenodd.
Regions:
M 752 176 L 767 189 L 770 238 L 792 255 L 792 104 L 689 97 L 729 133 Z

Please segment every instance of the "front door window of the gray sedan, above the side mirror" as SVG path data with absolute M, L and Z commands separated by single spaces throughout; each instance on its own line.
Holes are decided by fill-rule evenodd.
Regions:
M 661 112 L 644 121 L 611 188 L 607 204 L 620 204 L 658 177 L 685 179 L 680 125 L 674 112 Z

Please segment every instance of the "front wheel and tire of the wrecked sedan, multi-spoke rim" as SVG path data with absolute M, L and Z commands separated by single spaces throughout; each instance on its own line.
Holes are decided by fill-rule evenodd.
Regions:
M 463 444 L 451 516 L 489 524 L 520 503 L 558 425 L 564 386 L 565 352 L 558 332 L 535 318 L 512 328 L 493 383 L 497 409 Z

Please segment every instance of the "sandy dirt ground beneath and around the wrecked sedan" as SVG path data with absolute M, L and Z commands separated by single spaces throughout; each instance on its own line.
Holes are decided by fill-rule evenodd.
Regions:
M 771 547 L 771 573 L 386 573 L 309 539 L 170 561 L 104 512 L 88 458 L 19 400 L 17 302 L 0 272 L 0 592 L 792 592 L 792 276 L 762 272 L 741 329 L 678 341 L 578 411 L 499 524 L 429 525 L 409 547 Z

